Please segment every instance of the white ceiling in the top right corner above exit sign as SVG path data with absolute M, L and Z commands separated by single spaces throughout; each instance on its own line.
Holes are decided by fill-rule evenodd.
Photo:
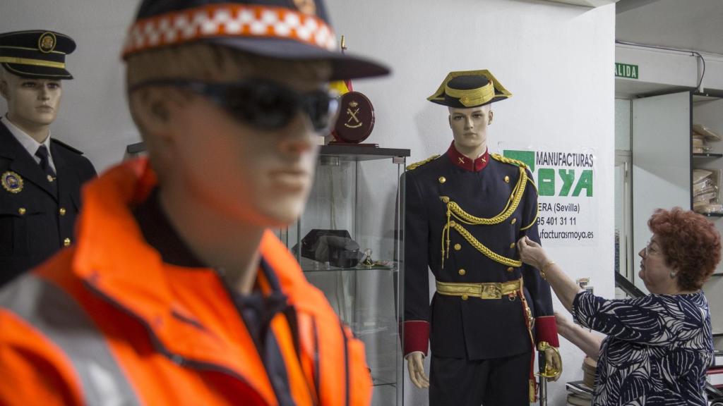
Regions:
M 723 0 L 620 0 L 615 39 L 723 55 Z

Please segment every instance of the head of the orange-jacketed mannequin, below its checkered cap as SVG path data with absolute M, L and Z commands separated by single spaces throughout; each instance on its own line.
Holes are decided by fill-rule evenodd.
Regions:
M 127 84 L 183 78 L 210 83 L 268 79 L 296 92 L 325 89 L 325 62 L 283 61 L 194 43 L 127 59 Z M 129 92 L 150 161 L 176 197 L 194 199 L 231 221 L 278 227 L 303 212 L 315 170 L 317 134 L 297 111 L 286 126 L 258 129 L 205 95 L 176 86 Z

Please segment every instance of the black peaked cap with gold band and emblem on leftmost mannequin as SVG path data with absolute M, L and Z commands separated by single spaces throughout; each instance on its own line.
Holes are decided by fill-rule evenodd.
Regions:
M 67 35 L 45 30 L 0 34 L 0 64 L 12 74 L 30 79 L 72 79 L 65 56 L 75 51 Z

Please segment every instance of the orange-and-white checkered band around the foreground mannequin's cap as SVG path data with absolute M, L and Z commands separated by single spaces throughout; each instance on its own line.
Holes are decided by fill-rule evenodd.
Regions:
M 213 4 L 137 21 L 123 56 L 200 38 L 264 37 L 296 40 L 334 51 L 336 37 L 323 20 L 282 7 Z

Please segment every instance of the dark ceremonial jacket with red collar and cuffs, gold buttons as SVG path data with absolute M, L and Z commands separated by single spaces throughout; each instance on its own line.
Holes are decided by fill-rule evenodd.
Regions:
M 527 265 L 510 267 L 482 254 L 457 230 L 450 230 L 448 257 L 442 267 L 442 230 L 448 223 L 447 197 L 476 217 L 495 217 L 505 208 L 518 179 L 520 167 L 485 154 L 482 170 L 455 165 L 461 159 L 453 147 L 437 159 L 408 170 L 405 178 L 405 337 L 404 353 L 427 352 L 440 357 L 470 360 L 500 358 L 532 350 L 534 328 L 528 329 L 520 298 L 463 298 L 435 293 L 429 304 L 431 269 L 441 282 L 506 282 L 523 277 L 523 291 L 532 316 L 552 316 L 549 284 Z M 469 158 L 467 158 L 469 160 Z M 482 158 L 478 158 L 482 159 Z M 526 170 L 526 169 L 525 169 Z M 539 242 L 537 192 L 531 173 L 516 210 L 497 225 L 463 225 L 477 241 L 509 259 L 519 259 L 515 244 L 522 236 Z M 446 240 L 446 238 L 444 238 Z M 446 249 L 446 242 L 445 242 Z M 549 318 L 546 321 L 553 321 Z M 426 333 L 424 322 L 431 323 Z M 534 327 L 534 323 L 530 323 Z M 420 328 L 422 327 L 422 328 Z M 429 328 L 427 328 L 429 331 Z M 554 332 L 555 342 L 557 333 Z M 408 345 L 416 342 L 416 345 Z

